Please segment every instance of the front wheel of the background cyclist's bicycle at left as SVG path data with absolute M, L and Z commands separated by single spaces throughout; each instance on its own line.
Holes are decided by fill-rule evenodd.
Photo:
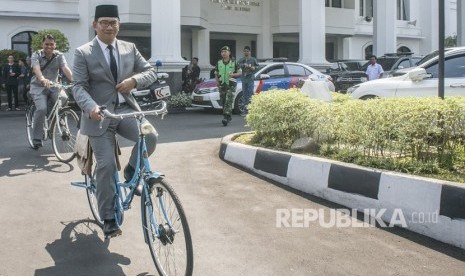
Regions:
M 79 119 L 74 110 L 65 108 L 58 114 L 53 124 L 52 146 L 56 157 L 61 162 L 68 163 L 74 159 L 74 145 L 79 130 Z

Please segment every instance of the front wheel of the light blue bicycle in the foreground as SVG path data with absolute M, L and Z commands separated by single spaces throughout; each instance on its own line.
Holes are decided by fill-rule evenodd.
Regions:
M 194 254 L 186 215 L 173 188 L 164 180 L 142 194 L 142 224 L 160 275 L 192 275 Z

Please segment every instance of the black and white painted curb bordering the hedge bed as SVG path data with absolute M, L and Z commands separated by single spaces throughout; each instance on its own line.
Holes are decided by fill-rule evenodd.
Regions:
M 383 209 L 386 222 L 400 209 L 408 230 L 465 249 L 465 185 L 252 147 L 237 135 L 222 139 L 221 159 L 351 209 Z

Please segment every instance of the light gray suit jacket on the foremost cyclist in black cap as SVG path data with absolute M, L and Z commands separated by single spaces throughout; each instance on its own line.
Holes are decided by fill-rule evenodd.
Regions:
M 146 87 L 157 79 L 155 69 L 139 53 L 133 43 L 117 40 L 118 49 L 118 83 L 126 78 L 134 78 L 137 88 Z M 73 96 L 82 109 L 81 133 L 89 136 L 102 135 L 110 120 L 104 120 L 102 128 L 99 121 L 90 119 L 90 112 L 96 105 L 106 105 L 114 112 L 117 91 L 116 83 L 111 74 L 110 65 L 98 44 L 96 38 L 80 46 L 74 53 L 73 66 Z M 132 95 L 123 97 L 135 110 L 140 107 Z

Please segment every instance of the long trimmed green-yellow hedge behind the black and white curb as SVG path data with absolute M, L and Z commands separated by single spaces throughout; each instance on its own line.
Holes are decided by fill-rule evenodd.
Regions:
M 465 172 L 465 98 L 309 99 L 296 89 L 252 97 L 253 143 L 289 150 L 313 137 L 321 154 L 410 173 Z

